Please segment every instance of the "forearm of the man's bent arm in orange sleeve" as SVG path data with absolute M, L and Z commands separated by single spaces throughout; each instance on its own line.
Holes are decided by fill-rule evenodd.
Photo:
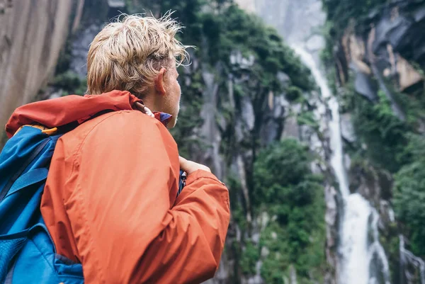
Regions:
M 169 211 L 169 225 L 154 239 L 142 262 L 164 261 L 136 271 L 142 283 L 201 283 L 220 263 L 229 224 L 229 193 L 214 175 L 196 171 Z

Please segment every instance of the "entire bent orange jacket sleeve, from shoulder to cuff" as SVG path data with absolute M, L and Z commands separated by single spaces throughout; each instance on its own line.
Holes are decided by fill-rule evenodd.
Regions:
M 74 160 L 65 200 L 85 283 L 214 276 L 229 224 L 227 188 L 196 171 L 176 200 L 178 177 L 176 144 L 153 118 L 130 112 L 94 127 Z

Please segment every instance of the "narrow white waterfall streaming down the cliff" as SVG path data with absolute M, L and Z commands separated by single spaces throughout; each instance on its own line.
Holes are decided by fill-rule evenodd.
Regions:
M 330 145 L 332 150 L 331 166 L 339 183 L 339 191 L 344 200 L 344 214 L 340 226 L 339 254 L 341 255 L 339 284 L 373 284 L 380 283 L 375 275 L 382 273 L 384 284 L 390 284 L 389 268 L 385 251 L 379 243 L 378 212 L 358 193 L 350 193 L 348 178 L 344 167 L 344 152 L 339 120 L 339 104 L 331 95 L 327 80 L 319 69 L 313 56 L 302 45 L 292 46 L 302 62 L 311 70 L 322 92 L 322 98 L 328 101 L 331 110 L 329 121 Z M 370 229 L 373 239 L 368 242 L 369 219 L 373 218 Z M 370 244 L 369 244 L 370 243 Z M 376 257 L 382 271 L 370 273 L 371 263 Z M 378 268 L 376 268 L 378 269 Z M 373 276 L 370 276 L 373 274 Z

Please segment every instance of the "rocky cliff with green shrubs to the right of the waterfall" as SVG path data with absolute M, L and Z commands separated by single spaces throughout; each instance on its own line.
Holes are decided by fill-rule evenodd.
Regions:
M 354 130 L 354 135 L 343 132 L 350 190 L 378 212 L 375 222 L 385 249 L 385 255 L 372 254 L 370 276 L 378 283 L 424 283 L 424 233 L 416 225 L 425 222 L 419 213 L 425 188 L 418 181 L 424 166 L 419 153 L 425 3 L 323 2 L 327 48 L 322 59 L 341 104 L 343 126 Z M 372 227 L 373 219 L 368 221 Z M 373 244 L 372 235 L 369 239 Z

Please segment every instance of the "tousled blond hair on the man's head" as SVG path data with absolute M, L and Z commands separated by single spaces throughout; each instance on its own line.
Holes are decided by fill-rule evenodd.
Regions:
M 121 16 L 91 42 L 87 57 L 87 92 L 130 91 L 144 96 L 161 67 L 188 58 L 186 45 L 175 36 L 181 25 L 166 13 L 162 18 Z

